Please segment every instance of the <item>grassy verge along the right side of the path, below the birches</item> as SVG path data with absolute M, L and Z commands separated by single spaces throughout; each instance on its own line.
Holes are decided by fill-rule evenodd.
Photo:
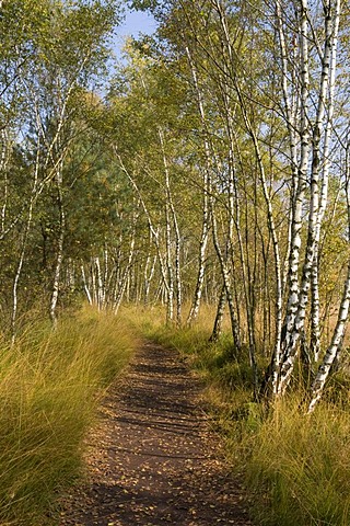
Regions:
M 210 317 L 212 319 L 212 316 Z M 208 401 L 226 442 L 233 469 L 246 473 L 252 514 L 266 526 L 349 526 L 350 403 L 346 390 L 332 385 L 312 415 L 294 393 L 268 412 L 254 403 L 245 359 L 230 358 L 231 342 L 208 343 L 205 316 L 195 328 L 165 328 L 153 311 L 144 313 L 142 331 L 188 356 L 206 379 Z

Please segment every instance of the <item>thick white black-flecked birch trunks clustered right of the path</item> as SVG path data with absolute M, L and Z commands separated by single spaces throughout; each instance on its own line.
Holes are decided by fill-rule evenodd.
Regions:
M 277 5 L 278 19 L 280 19 L 280 5 Z M 317 249 L 319 244 L 320 225 L 327 203 L 327 188 L 329 178 L 329 141 L 332 133 L 332 114 L 335 105 L 335 72 L 337 65 L 337 43 L 340 16 L 340 2 L 327 2 L 324 5 L 324 38 L 323 46 L 317 37 L 314 43 L 317 48 L 319 60 L 319 84 L 313 96 L 310 87 L 310 61 L 308 32 L 316 34 L 313 25 L 313 13 L 307 2 L 300 5 L 300 57 L 301 57 L 301 132 L 300 132 L 300 160 L 298 164 L 298 186 L 295 207 L 293 208 L 292 224 L 292 250 L 290 260 L 290 293 L 285 318 L 285 338 L 283 341 L 282 366 L 280 370 L 279 391 L 283 391 L 290 381 L 293 364 L 298 351 L 298 342 L 305 331 L 306 305 L 311 288 L 312 268 L 317 265 Z M 279 25 L 281 22 L 279 21 Z M 281 47 L 283 38 L 280 36 Z M 282 54 L 285 55 L 285 52 Z M 285 100 L 288 94 L 285 94 Z M 315 106 L 312 106 L 312 103 Z M 313 107 L 316 107 L 315 112 Z M 327 111 L 326 111 L 327 108 Z M 289 123 L 292 126 L 292 123 Z M 323 144 L 323 151 L 320 145 Z M 311 156 L 311 164 L 310 164 Z M 320 167 L 323 168 L 320 172 Z M 302 208 L 306 182 L 310 181 L 310 206 L 307 241 L 305 247 L 305 260 L 302 268 L 302 277 L 299 281 L 299 254 L 301 248 L 300 231 L 302 226 Z M 316 281 L 316 271 L 314 272 Z M 317 295 L 317 284 L 313 286 L 313 297 Z M 312 345 L 314 354 L 318 355 L 318 309 L 317 302 L 312 306 Z

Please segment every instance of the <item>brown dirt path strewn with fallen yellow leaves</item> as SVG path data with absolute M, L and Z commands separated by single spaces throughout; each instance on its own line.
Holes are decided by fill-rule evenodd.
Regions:
M 138 352 L 102 408 L 89 483 L 60 526 L 247 526 L 243 493 L 200 410 L 200 385 L 175 351 Z

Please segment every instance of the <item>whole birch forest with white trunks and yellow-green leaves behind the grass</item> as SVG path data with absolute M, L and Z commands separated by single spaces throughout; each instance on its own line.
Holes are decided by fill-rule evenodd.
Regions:
M 126 7 L 155 31 L 116 57 Z M 33 316 L 55 331 L 86 302 L 163 309 L 175 331 L 205 311 L 254 407 L 298 393 L 306 420 L 348 386 L 349 16 L 346 0 L 2 0 L 9 353 Z

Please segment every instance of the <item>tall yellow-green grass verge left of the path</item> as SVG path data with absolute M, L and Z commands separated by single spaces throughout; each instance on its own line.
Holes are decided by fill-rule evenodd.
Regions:
M 0 523 L 43 525 L 80 472 L 98 395 L 128 363 L 135 338 L 108 313 L 84 309 L 32 323 L 0 342 Z

